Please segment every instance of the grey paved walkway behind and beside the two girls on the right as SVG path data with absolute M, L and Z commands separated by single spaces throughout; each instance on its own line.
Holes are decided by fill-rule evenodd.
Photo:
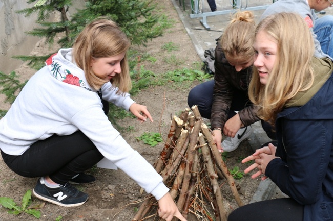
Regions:
M 189 36 L 192 39 L 192 43 L 202 60 L 204 60 L 204 51 L 209 48 L 215 48 L 216 41 L 219 36 L 223 33 L 224 28 L 230 22 L 230 12 L 232 11 L 232 5 L 230 2 L 232 0 L 215 0 L 217 5 L 217 11 L 211 12 L 209 5 L 206 0 L 199 0 L 202 6 L 200 6 L 203 12 L 203 15 L 209 15 L 204 17 L 194 17 L 194 14 L 191 12 L 191 6 L 189 0 L 184 0 L 184 5 L 180 5 L 183 3 L 183 0 L 171 0 L 174 4 L 174 7 L 181 19 L 186 32 L 188 32 Z M 242 4 L 243 7 L 247 4 L 248 8 L 259 8 L 259 7 L 267 7 L 269 4 L 272 4 L 272 0 L 260 0 L 254 1 L 252 0 L 250 3 L 249 0 L 235 0 L 238 2 L 237 4 Z M 185 10 L 184 10 L 185 9 Z M 261 14 L 264 12 L 262 10 L 252 10 L 255 14 L 256 21 L 259 20 Z M 226 14 L 224 14 L 226 13 Z M 327 8 L 324 11 L 325 15 L 333 15 L 333 9 Z M 214 16 L 210 16 L 214 14 Z M 195 14 L 196 16 L 196 14 Z M 323 16 L 322 14 L 318 14 L 318 16 Z M 191 18 L 192 17 L 192 18 Z M 207 27 L 209 29 L 207 29 Z M 267 137 L 266 133 L 263 131 L 259 122 L 253 125 L 254 133 L 248 140 L 252 149 L 255 151 L 258 149 L 261 144 L 270 141 Z M 276 187 L 276 185 L 270 181 L 269 179 L 262 181 L 258 186 L 256 193 L 253 196 L 251 202 L 262 201 L 266 199 L 271 199 L 275 194 L 283 195 L 283 193 Z

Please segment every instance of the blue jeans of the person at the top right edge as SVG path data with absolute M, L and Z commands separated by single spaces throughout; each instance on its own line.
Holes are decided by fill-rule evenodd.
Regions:
M 323 53 L 333 58 L 333 16 L 325 15 L 315 21 L 314 33 Z

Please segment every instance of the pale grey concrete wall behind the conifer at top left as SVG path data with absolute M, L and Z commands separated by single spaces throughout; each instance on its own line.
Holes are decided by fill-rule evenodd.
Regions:
M 37 2 L 37 1 L 36 1 Z M 84 0 L 73 0 L 76 8 L 83 8 Z M 29 55 L 40 40 L 38 37 L 28 36 L 26 31 L 37 27 L 35 24 L 36 14 L 25 17 L 17 14 L 17 10 L 31 8 L 33 4 L 27 4 L 26 0 L 0 0 L 0 71 L 9 73 L 23 64 L 22 61 L 13 59 L 16 55 Z

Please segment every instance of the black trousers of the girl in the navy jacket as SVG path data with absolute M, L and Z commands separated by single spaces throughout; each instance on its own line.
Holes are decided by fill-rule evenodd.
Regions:
M 303 221 L 304 206 L 291 198 L 250 203 L 235 209 L 228 221 Z

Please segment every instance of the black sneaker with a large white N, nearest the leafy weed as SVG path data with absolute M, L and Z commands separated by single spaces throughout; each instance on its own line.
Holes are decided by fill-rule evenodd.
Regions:
M 87 193 L 77 190 L 69 183 L 56 188 L 47 187 L 42 178 L 37 181 L 33 194 L 38 199 L 66 207 L 80 206 L 89 198 Z

